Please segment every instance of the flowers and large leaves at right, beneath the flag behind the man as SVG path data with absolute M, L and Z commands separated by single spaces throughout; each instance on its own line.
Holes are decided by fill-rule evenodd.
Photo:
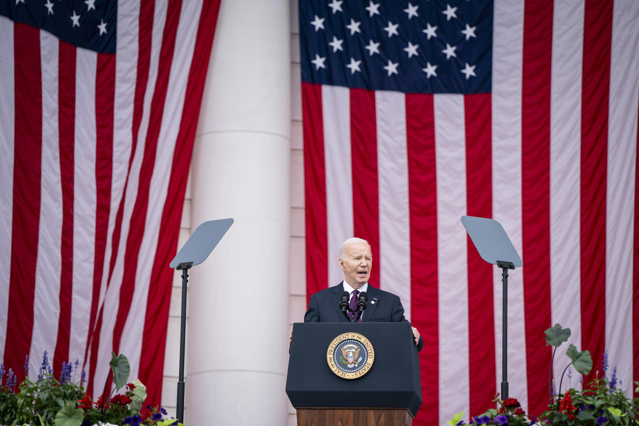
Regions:
M 562 328 L 560 324 L 548 328 L 546 333 L 546 346 L 553 346 L 552 360 L 555 360 L 557 348 L 568 340 L 571 335 L 569 328 Z M 607 351 L 606 351 L 607 352 Z M 548 409 L 539 416 L 526 415 L 520 403 L 514 398 L 506 400 L 495 397 L 495 409 L 489 409 L 482 415 L 470 418 L 469 423 L 462 420 L 464 412 L 456 414 L 448 422 L 456 426 L 475 425 L 639 425 L 639 399 L 629 399 L 626 392 L 617 388 L 617 367 L 612 369 L 610 377 L 606 377 L 608 370 L 608 354 L 603 354 L 603 377 L 584 386 L 582 390 L 569 388 L 562 392 L 564 375 L 571 378 L 572 368 L 579 374 L 589 374 L 592 370 L 592 358 L 589 351 L 577 351 L 574 345 L 570 345 L 566 356 L 570 363 L 562 372 L 558 390 L 555 383 L 548 376 Z M 552 365 L 552 363 L 551 363 Z M 598 376 L 598 374 L 597 374 Z M 639 382 L 635 382 L 639 385 Z M 636 388 L 639 392 L 639 387 Z

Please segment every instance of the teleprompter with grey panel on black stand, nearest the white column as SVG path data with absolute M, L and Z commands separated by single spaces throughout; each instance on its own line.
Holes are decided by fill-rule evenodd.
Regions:
M 180 377 L 178 378 L 177 416 L 184 423 L 184 347 L 187 331 L 187 284 L 189 269 L 199 265 L 211 254 L 213 248 L 222 240 L 226 231 L 233 225 L 233 219 L 209 220 L 199 225 L 189 240 L 171 261 L 171 268 L 182 271 L 182 315 L 180 323 Z

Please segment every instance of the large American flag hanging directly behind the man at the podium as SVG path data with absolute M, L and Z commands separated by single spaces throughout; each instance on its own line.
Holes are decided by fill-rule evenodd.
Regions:
M 463 215 L 497 219 L 523 259 L 509 274 L 510 396 L 533 415 L 546 407 L 555 323 L 592 353 L 586 383 L 607 348 L 631 394 L 639 2 L 299 8 L 307 295 L 341 280 L 343 240 L 371 243 L 371 283 L 401 296 L 424 337 L 415 423 L 479 415 L 500 390 L 501 270 L 481 260 Z M 580 386 L 574 372 L 567 382 Z

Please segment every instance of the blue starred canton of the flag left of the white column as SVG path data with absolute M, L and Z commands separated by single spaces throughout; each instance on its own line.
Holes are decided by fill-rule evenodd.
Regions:
M 117 0 L 9 0 L 0 3 L 0 15 L 49 31 L 77 47 L 116 52 Z

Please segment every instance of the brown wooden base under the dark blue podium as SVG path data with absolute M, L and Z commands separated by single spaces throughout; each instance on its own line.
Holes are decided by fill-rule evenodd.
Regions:
M 405 408 L 298 408 L 297 426 L 410 426 Z

